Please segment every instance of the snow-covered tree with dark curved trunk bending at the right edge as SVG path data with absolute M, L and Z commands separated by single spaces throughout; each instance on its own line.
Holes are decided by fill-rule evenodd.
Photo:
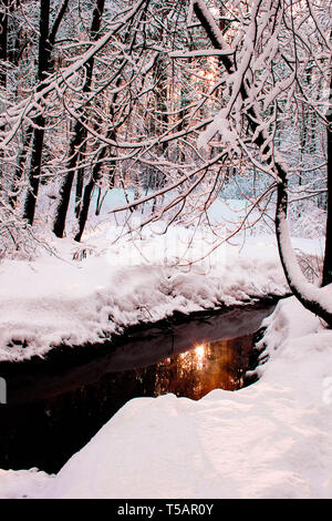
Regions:
M 283 96 L 289 108 L 299 103 L 302 96 L 301 102 L 314 108 L 325 121 L 325 115 L 315 106 L 317 100 L 310 91 L 312 85 L 305 85 L 303 75 L 310 67 L 313 75 L 323 79 L 325 89 L 330 85 L 329 24 L 324 24 L 326 19 L 321 20 L 322 14 L 326 14 L 326 6 L 323 2 L 313 4 L 309 0 L 278 3 L 256 0 L 246 4 L 234 2 L 231 7 L 241 24 L 231 45 L 227 43 L 204 0 L 193 0 L 191 7 L 211 44 L 220 51 L 220 61 L 229 85 L 225 108 L 215 116 L 214 123 L 207 127 L 200 140 L 207 143 L 219 132 L 229 153 L 239 153 L 241 149 L 257 163 L 249 151 L 251 144 L 256 145 L 260 157 L 259 167 L 274 178 L 277 186 L 276 235 L 287 280 L 303 306 L 332 326 L 329 295 L 305 280 L 291 246 L 287 222 L 290 166 L 273 142 Z M 284 45 L 284 40 L 287 45 L 291 45 L 290 49 Z M 280 62 L 286 63 L 289 71 L 286 78 L 278 80 L 276 69 Z M 245 135 L 243 120 L 247 123 Z M 328 141 L 331 140 L 329 123 L 328 120 Z M 329 282 L 326 273 L 331 274 L 329 239 L 328 231 L 324 284 Z

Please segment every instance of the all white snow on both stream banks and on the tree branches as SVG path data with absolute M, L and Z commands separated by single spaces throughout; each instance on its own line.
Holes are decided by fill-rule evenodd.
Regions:
M 259 104 L 264 102 L 264 108 L 268 109 L 267 105 L 281 91 L 288 90 L 288 102 L 283 111 L 287 113 L 294 100 L 295 72 L 288 78 L 283 78 L 281 72 L 281 78 L 276 78 L 277 86 L 271 86 L 268 98 L 263 100 L 262 95 L 264 83 L 268 84 L 269 80 L 276 83 L 268 71 L 273 73 L 270 65 L 274 54 L 280 54 L 277 52 L 277 43 L 279 41 L 282 44 L 282 38 L 287 40 L 289 32 L 286 25 L 278 28 L 279 19 L 278 16 L 276 18 L 273 3 L 251 2 L 250 13 L 246 9 L 246 12 L 241 11 L 240 2 L 235 3 L 238 7 L 236 25 L 239 30 L 237 37 L 230 34 L 230 39 L 234 38 L 231 47 L 236 50 L 232 51 L 228 43 L 229 34 L 225 39 L 217 18 L 214 18 L 206 2 L 190 0 L 187 22 L 196 24 L 193 20 L 196 13 L 215 49 L 208 52 L 196 50 L 191 53 L 178 50 L 170 54 L 173 58 L 197 58 L 203 54 L 222 58 L 228 76 L 224 89 L 227 104 L 221 104 L 221 111 L 214 119 L 209 116 L 208 120 L 200 120 L 189 130 L 193 134 L 206 126 L 198 137 L 199 147 L 207 146 L 215 134 L 219 133 L 221 144 L 228 145 L 225 150 L 230 152 L 230 157 L 231 152 L 237 153 L 240 147 L 247 152 L 253 166 L 258 167 L 258 160 L 251 157 L 247 149 L 248 143 L 241 142 L 240 134 L 238 135 L 242 130 L 240 112 L 248 113 L 249 108 L 251 109 L 251 123 L 253 122 L 253 127 L 257 125 L 251 142 L 263 142 L 261 149 L 266 153 L 260 160 L 267 161 L 272 154 L 272 136 L 267 132 L 270 122 L 260 121 Z M 13 157 L 11 151 L 15 146 L 15 135 L 23 119 L 28 118 L 28 123 L 29 119 L 33 123 L 35 114 L 42 111 L 43 101 L 45 108 L 52 109 L 51 102 L 55 98 L 63 103 L 68 99 L 65 112 L 75 120 L 80 108 L 74 108 L 69 96 L 63 95 L 64 90 L 80 89 L 75 85 L 77 72 L 113 39 L 117 39 L 118 31 L 125 24 L 131 24 L 143 4 L 144 0 L 138 0 L 122 16 L 108 20 L 110 30 L 104 31 L 79 59 L 48 76 L 34 92 L 25 92 L 25 98 L 17 105 L 8 108 L 1 116 L 1 126 L 8 126 L 9 130 L 0 147 L 8 149 L 10 160 Z M 311 12 L 310 2 L 308 4 L 309 18 L 314 22 L 313 29 L 325 47 L 331 47 L 326 41 L 325 28 Z M 216 17 L 219 14 L 216 12 Z M 314 31 L 307 23 L 309 14 L 300 13 L 294 27 L 291 27 L 298 30 L 303 25 L 302 48 L 308 48 L 304 54 L 311 60 L 317 42 L 313 45 L 310 42 Z M 287 11 L 284 16 L 288 16 Z M 291 21 L 292 17 L 291 11 Z M 276 38 L 271 38 L 266 44 L 268 25 L 272 27 Z M 268 31 L 269 34 L 270 32 Z M 278 40 L 278 35 L 282 38 Z M 258 47 L 263 52 L 259 52 L 257 59 L 255 54 Z M 114 55 L 120 50 L 124 57 L 123 63 L 131 62 L 129 57 L 124 54 L 124 47 L 115 43 Z M 164 52 L 162 48 L 155 48 L 155 51 Z M 237 53 L 234 60 L 228 58 L 232 52 Z M 315 55 L 315 60 L 318 57 L 324 61 L 323 54 Z M 101 60 L 103 62 L 103 58 Z M 234 63 L 236 67 L 232 67 Z M 148 67 L 149 63 L 146 64 Z M 301 71 L 297 70 L 298 72 L 300 81 Z M 113 90 L 113 93 L 116 92 L 118 89 Z M 94 96 L 95 92 L 91 95 Z M 209 93 L 206 94 L 206 99 L 208 98 Z M 305 92 L 303 98 L 307 102 L 310 101 L 310 95 Z M 315 102 L 313 100 L 313 104 Z M 194 105 L 186 105 L 185 109 L 191 106 Z M 56 119 L 53 112 L 52 118 Z M 174 113 L 169 110 L 167 114 Z M 82 124 L 84 126 L 84 122 Z M 146 150 L 157 144 L 157 141 L 159 144 L 166 143 L 187 133 L 183 129 L 173 133 L 172 137 L 164 135 L 159 140 L 146 137 L 141 141 L 136 140 L 139 136 L 134 133 L 133 141 L 129 136 L 126 141 L 120 139 L 115 143 L 97 134 L 93 127 L 87 130 L 90 136 L 95 137 L 100 144 L 116 145 L 117 150 L 127 151 L 126 156 L 120 157 L 123 165 L 125 157 L 135 156 L 135 151 Z M 287 142 L 290 143 L 289 137 Z M 287 153 L 284 140 L 282 150 Z M 86 149 L 86 154 L 89 153 Z M 84 155 L 84 151 L 82 154 Z M 49 155 L 50 164 L 54 166 L 51 149 Z M 283 167 L 286 159 L 279 156 L 277 151 L 273 151 L 273 157 L 277 166 L 288 171 L 287 166 Z M 143 161 L 146 160 L 143 157 Z M 198 183 L 204 183 L 205 166 L 208 168 L 216 161 L 217 156 L 205 165 L 199 164 L 197 171 L 190 170 L 188 176 L 187 166 L 184 165 L 179 170 L 183 176 L 175 175 L 173 185 L 159 191 L 157 203 L 164 196 L 167 198 L 167 191 L 180 187 L 187 190 L 187 193 L 181 193 L 183 197 L 193 197 L 187 207 L 190 208 L 191 205 L 193 212 L 198 211 L 200 201 L 195 201 L 197 194 L 193 190 Z M 166 168 L 167 162 L 162 163 Z M 311 161 L 309 163 L 311 166 Z M 294 172 L 293 166 L 290 172 Z M 272 168 L 266 168 L 266 173 L 271 176 Z M 190 188 L 186 187 L 186 181 L 193 182 Z M 209 191 L 208 186 L 204 188 Z M 0 361 L 14 362 L 35 355 L 43 357 L 61 344 L 84 349 L 86 343 L 98 343 L 121 334 L 126 326 L 142 321 L 154 323 L 175 311 L 189 314 L 221 305 L 240 305 L 270 294 L 282 295 L 287 290 L 276 241 L 267 228 L 262 226 L 259 236 L 246 236 L 250 233 L 247 228 L 234 241 L 225 239 L 230 228 L 228 221 L 235 217 L 240 223 L 246 214 L 245 208 L 237 207 L 237 204 L 227 206 L 217 201 L 209 212 L 212 228 L 203 225 L 191 243 L 195 226 L 188 225 L 191 218 L 188 214 L 187 223 L 183 217 L 183 222 L 170 227 L 167 234 L 164 232 L 166 223 L 153 223 L 153 225 L 141 231 L 138 203 L 146 205 L 146 212 L 151 194 L 139 195 L 141 200 L 135 198 L 134 202 L 136 212 L 131 224 L 136 229 L 132 236 L 118 237 L 122 228 L 126 227 L 125 218 L 128 215 L 125 212 L 127 201 L 120 201 L 118 210 L 122 208 L 122 212 L 116 217 L 108 216 L 106 219 L 104 215 L 103 218 L 90 221 L 95 227 L 90 226 L 82 245 L 74 244 L 70 238 L 59 241 L 46 237 L 58 256 L 44 252 L 33 260 L 17 257 L 0 264 Z M 110 210 L 107 204 L 108 201 L 105 202 L 105 207 Z M 176 208 L 172 204 L 164 207 L 165 211 L 169 208 L 175 215 Z M 43 221 L 45 215 L 50 214 L 39 213 L 39 218 Z M 255 217 L 252 212 L 250 218 L 255 221 Z M 264 217 L 269 217 L 268 212 Z M 315 255 L 320 249 L 319 242 L 311 239 L 304 244 L 301 237 L 291 241 L 284 219 L 281 219 L 279 231 L 282 235 L 281 255 L 289 265 L 290 279 L 293 280 L 297 293 L 304 300 L 315 300 L 332 313 L 331 287 L 319 288 L 318 285 L 309 284 L 302 274 L 302 266 L 297 266 L 293 255 L 294 245 L 298 245 L 301 254 Z M 70 237 L 71 233 L 69 229 L 68 232 Z M 221 235 L 218 237 L 216 232 Z M 207 256 L 209 251 L 211 255 Z M 215 389 L 198 401 L 174 395 L 131 400 L 110 418 L 82 450 L 70 458 L 56 476 L 48 476 L 38 469 L 0 470 L 0 496 L 48 499 L 331 498 L 332 331 L 293 297 L 280 302 L 263 325 L 267 329 L 258 345 L 258 348 L 263 348 L 260 354 L 261 366 L 257 369 L 259 380 L 252 386 L 235 392 Z

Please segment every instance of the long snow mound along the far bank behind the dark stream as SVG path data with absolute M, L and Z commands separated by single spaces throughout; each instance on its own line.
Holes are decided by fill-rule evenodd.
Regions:
M 183 267 L 164 262 L 163 241 L 142 241 L 147 260 L 141 257 L 139 264 L 132 256 L 133 243 L 108 245 L 103 254 L 82 262 L 45 256 L 30 264 L 2 263 L 0 360 L 43 356 L 61 344 L 98 343 L 126 326 L 154 323 L 175 311 L 189 314 L 287 290 L 271 239 L 248 242 L 242 252 L 226 246 L 208 266 Z

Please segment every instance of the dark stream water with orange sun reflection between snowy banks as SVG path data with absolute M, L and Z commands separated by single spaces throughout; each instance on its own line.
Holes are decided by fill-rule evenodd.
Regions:
M 0 468 L 59 471 L 135 397 L 173 392 L 199 399 L 216 388 L 243 387 L 253 333 L 273 307 L 164 321 L 101 349 L 0 364 L 8 387 L 8 402 L 0 405 Z

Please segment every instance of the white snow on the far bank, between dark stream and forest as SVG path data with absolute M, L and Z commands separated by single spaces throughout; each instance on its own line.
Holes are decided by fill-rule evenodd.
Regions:
M 121 197 L 114 192 L 111 201 L 116 206 Z M 104 221 L 85 233 L 82 244 L 48 237 L 61 258 L 44 253 L 30 263 L 0 264 L 0 360 L 43 356 L 61 344 L 97 343 L 126 326 L 154 323 L 174 311 L 242 304 L 288 289 L 272 235 L 245 243 L 239 236 L 208 257 L 216 235 L 207 226 L 193 244 L 195 228 L 178 224 L 164 234 L 163 222 L 135 232 L 134 239 L 125 235 L 114 243 L 123 222 L 112 221 L 105 204 Z M 225 223 L 238 219 L 238 206 L 218 202 L 210 219 L 220 221 L 219 214 Z M 133 218 L 134 227 L 138 218 Z M 73 260 L 75 253 L 81 260 Z M 190 260 L 198 262 L 188 265 Z

